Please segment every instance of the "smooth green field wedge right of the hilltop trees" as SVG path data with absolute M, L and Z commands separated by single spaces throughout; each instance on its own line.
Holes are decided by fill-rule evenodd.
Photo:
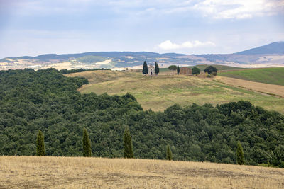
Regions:
M 284 68 L 244 69 L 220 72 L 219 76 L 284 86 Z

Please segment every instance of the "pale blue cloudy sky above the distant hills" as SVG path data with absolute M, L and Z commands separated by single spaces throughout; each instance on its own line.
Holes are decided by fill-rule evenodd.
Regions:
M 284 41 L 284 0 L 0 0 L 0 58 L 234 53 Z

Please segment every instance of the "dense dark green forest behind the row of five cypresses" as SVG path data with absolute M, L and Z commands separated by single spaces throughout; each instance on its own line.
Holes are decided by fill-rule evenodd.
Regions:
M 87 79 L 62 71 L 0 71 L 0 155 L 36 154 L 42 131 L 47 156 L 82 156 L 82 130 L 92 156 L 123 157 L 129 128 L 136 158 L 236 164 L 238 141 L 246 164 L 284 167 L 284 115 L 248 101 L 173 105 L 164 112 L 143 110 L 131 94 L 80 94 Z M 190 98 L 190 97 L 189 97 Z

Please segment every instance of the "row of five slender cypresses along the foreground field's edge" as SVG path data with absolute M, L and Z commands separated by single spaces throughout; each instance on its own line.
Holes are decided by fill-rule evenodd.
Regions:
M 129 132 L 129 127 L 126 127 L 126 129 L 124 130 L 123 141 L 124 141 L 124 158 L 134 158 L 133 144 L 132 144 L 131 135 Z M 86 128 L 83 128 L 82 144 L 83 144 L 83 156 L 90 157 L 92 155 L 91 141 L 89 139 L 89 134 Z M 43 132 L 41 131 L 38 131 L 38 137 L 36 139 L 36 154 L 38 156 L 45 156 L 44 136 L 43 136 Z M 166 147 L 165 159 L 173 160 L 173 153 L 170 150 L 169 144 L 167 144 L 167 147 Z M 236 149 L 236 164 L 239 164 L 239 165 L 245 164 L 244 151 L 243 151 L 243 147 L 241 147 L 240 141 L 238 141 L 237 149 Z

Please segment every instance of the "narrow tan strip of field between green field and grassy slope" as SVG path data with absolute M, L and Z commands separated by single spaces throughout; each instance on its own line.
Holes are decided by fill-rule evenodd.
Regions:
M 284 86 L 263 84 L 259 82 L 247 81 L 243 79 L 234 79 L 225 76 L 216 76 L 215 81 L 221 81 L 222 83 L 229 84 L 231 86 L 240 86 L 252 91 L 266 93 L 273 96 L 280 96 L 284 98 Z

